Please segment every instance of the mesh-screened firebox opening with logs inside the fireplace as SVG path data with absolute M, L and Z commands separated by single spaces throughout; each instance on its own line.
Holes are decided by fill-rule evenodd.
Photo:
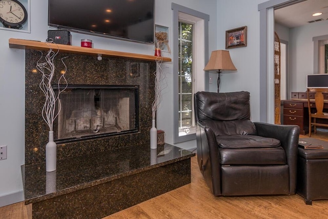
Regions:
M 56 142 L 137 132 L 137 87 L 74 86 L 59 97 Z

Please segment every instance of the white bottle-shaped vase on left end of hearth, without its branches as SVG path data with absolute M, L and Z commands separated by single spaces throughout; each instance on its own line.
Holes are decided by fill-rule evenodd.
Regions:
M 46 145 L 46 170 L 52 172 L 57 166 L 57 145 L 53 141 L 53 131 L 49 131 L 49 142 Z

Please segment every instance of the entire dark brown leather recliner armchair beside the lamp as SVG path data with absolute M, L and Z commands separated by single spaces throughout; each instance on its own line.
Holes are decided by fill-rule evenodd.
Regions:
M 214 195 L 295 194 L 298 126 L 251 122 L 246 91 L 194 98 L 199 169 Z

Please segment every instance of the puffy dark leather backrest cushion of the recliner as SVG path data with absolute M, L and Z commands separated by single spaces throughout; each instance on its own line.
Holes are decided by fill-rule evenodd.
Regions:
M 196 122 L 250 120 L 250 92 L 197 92 L 195 94 L 195 118 Z

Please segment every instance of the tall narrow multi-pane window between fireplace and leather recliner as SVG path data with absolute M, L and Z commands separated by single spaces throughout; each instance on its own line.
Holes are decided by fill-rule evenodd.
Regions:
M 174 143 L 196 139 L 194 93 L 205 90 L 209 15 L 172 3 Z

